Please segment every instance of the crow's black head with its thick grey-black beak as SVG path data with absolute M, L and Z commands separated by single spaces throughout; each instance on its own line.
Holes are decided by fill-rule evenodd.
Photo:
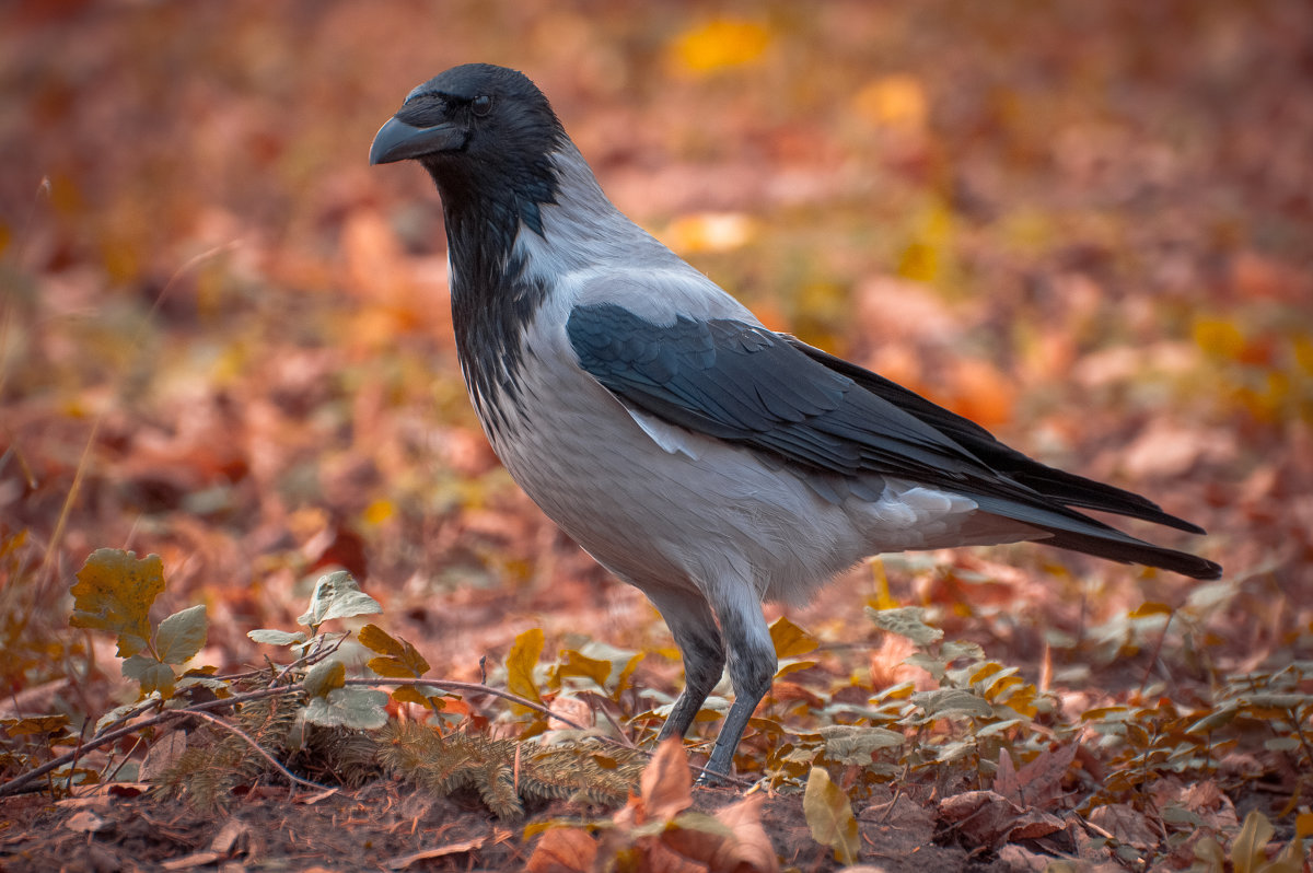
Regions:
M 411 91 L 374 137 L 370 164 L 418 160 L 448 209 L 500 192 L 553 202 L 551 155 L 566 139 L 548 98 L 524 74 L 462 64 Z

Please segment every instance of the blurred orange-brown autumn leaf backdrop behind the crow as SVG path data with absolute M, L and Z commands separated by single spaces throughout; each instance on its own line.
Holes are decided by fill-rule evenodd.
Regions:
M 330 564 L 453 679 L 530 626 L 668 646 L 500 470 L 437 196 L 368 167 L 471 60 L 769 326 L 1207 526 L 1159 538 L 1226 566 L 1222 656 L 1309 645 L 1306 3 L 60 0 L 0 7 L 0 58 L 7 693 L 113 693 L 67 629 L 102 546 L 164 558 L 160 614 L 209 605 L 211 664 Z M 1188 591 L 1018 546 L 859 568 L 801 620 L 876 638 L 844 625 L 880 578 L 1019 659 Z

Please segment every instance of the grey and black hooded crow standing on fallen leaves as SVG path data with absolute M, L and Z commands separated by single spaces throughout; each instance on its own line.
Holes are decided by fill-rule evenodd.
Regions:
M 524 74 L 471 63 L 418 85 L 369 151 L 403 160 L 442 203 L 457 356 L 488 442 L 680 650 L 658 740 L 688 733 L 727 666 L 713 780 L 777 670 L 762 604 L 806 603 L 872 555 L 1036 541 L 1221 576 L 1082 511 L 1197 525 L 768 330 L 621 214 Z

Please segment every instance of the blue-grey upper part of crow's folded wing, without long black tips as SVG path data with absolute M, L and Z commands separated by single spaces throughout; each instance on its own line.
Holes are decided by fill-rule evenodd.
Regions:
M 670 424 L 840 475 L 961 487 L 987 473 L 952 438 L 760 326 L 685 316 L 662 326 L 596 303 L 576 306 L 566 332 L 584 370 Z

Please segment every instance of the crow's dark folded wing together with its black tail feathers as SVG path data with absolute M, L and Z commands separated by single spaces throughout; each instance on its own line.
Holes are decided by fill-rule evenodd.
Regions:
M 1186 526 L 1144 498 L 1046 467 L 874 373 L 759 324 L 687 316 L 656 324 L 614 303 L 590 303 L 574 307 L 566 335 L 587 373 L 630 410 L 667 424 L 804 470 L 892 475 L 965 494 L 1066 549 L 1195 578 L 1221 572 L 1070 508 Z

